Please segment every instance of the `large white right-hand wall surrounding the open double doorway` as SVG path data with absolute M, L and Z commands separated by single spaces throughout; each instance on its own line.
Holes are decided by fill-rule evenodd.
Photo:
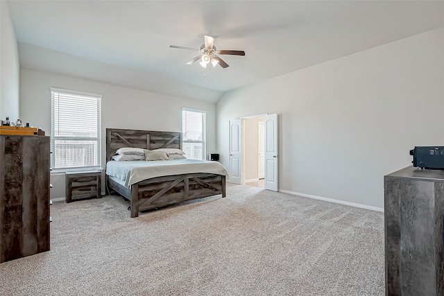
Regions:
M 413 146 L 444 146 L 444 28 L 224 94 L 217 146 L 228 167 L 228 121 L 278 113 L 282 191 L 384 207 L 384 175 Z

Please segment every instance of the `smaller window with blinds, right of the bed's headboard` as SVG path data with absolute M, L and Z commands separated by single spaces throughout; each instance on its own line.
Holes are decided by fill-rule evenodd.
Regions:
M 187 157 L 205 160 L 205 111 L 182 108 L 182 134 Z

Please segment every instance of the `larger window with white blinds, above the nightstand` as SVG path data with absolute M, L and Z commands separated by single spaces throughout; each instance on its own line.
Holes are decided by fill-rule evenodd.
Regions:
M 51 87 L 51 166 L 101 167 L 101 95 Z

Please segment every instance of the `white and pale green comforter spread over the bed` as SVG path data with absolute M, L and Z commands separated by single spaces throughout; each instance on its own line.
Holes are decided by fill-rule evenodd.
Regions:
M 106 174 L 125 181 L 125 186 L 152 177 L 165 175 L 181 175 L 186 173 L 214 173 L 228 175 L 228 171 L 220 162 L 207 162 L 195 159 L 174 159 L 154 161 L 115 162 L 106 164 Z

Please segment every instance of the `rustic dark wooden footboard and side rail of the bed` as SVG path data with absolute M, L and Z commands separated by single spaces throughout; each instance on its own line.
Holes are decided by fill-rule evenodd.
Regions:
M 108 179 L 108 186 L 130 200 L 131 218 L 139 211 L 221 194 L 225 198 L 225 176 L 192 173 L 155 177 L 133 184 L 130 189 Z

